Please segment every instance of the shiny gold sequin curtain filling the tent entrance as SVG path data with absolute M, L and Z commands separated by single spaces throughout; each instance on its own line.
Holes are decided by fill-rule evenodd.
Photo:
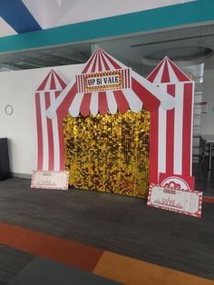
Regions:
M 70 185 L 146 198 L 149 112 L 67 116 L 63 133 Z

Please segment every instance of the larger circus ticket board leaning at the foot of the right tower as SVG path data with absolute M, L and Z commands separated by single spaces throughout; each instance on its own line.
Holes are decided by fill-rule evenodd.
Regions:
M 151 184 L 147 205 L 200 218 L 202 192 L 176 190 Z

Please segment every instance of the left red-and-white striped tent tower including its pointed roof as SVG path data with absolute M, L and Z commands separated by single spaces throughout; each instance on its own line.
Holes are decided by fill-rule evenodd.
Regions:
M 36 90 L 37 170 L 64 170 L 63 124 L 57 116 L 53 120 L 49 119 L 46 110 L 65 86 L 63 79 L 52 70 Z

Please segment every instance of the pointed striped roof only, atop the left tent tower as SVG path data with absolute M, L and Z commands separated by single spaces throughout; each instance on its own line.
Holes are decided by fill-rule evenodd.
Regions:
M 62 91 L 66 85 L 63 79 L 52 69 L 36 91 Z

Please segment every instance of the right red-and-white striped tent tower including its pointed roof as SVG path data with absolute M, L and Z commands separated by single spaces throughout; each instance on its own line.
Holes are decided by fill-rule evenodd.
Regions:
M 151 173 L 154 182 L 160 173 L 191 176 L 191 138 L 194 84 L 190 78 L 165 57 L 147 78 L 175 98 L 175 108 L 160 105 L 151 128 L 157 128 L 158 144 L 151 142 L 158 172 Z M 153 129 L 153 132 L 155 130 Z M 155 160 L 155 158 L 153 158 Z

